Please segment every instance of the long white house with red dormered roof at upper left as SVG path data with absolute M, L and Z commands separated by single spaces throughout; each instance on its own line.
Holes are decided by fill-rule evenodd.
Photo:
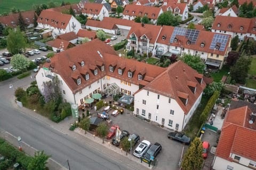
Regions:
M 70 33 L 77 33 L 81 23 L 73 15 L 63 14 L 52 10 L 43 10 L 37 19 L 38 28 L 50 29 L 53 37 Z

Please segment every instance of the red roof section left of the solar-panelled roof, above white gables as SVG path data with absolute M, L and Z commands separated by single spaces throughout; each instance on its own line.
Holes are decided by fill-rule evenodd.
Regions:
M 130 38 L 132 34 L 135 34 L 138 38 L 145 35 L 149 39 L 149 43 L 154 44 L 161 29 L 161 26 L 134 22 L 127 35 L 127 38 Z

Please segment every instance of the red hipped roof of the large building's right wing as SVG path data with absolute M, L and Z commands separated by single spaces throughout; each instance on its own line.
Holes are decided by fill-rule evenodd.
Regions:
M 199 74 L 201 75 L 201 74 Z M 156 77 L 150 84 L 143 87 L 145 90 L 162 94 L 175 99 L 185 114 L 188 114 L 195 101 L 202 94 L 206 84 L 199 84 L 196 77 L 198 72 L 182 61 L 177 61 L 167 68 L 161 75 Z M 190 82 L 190 83 L 188 83 Z M 193 93 L 189 85 L 196 84 L 196 92 Z M 188 99 L 185 105 L 180 99 Z

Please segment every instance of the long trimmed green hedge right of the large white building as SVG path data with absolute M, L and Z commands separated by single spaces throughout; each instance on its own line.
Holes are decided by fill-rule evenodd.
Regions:
M 220 92 L 215 91 L 211 96 L 211 98 L 209 99 L 209 101 L 207 102 L 202 114 L 199 117 L 201 124 L 205 123 L 205 121 L 207 120 L 216 100 L 219 98 L 219 95 L 220 95 Z

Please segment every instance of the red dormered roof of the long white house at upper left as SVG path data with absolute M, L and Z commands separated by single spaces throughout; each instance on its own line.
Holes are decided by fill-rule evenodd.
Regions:
M 37 22 L 66 29 L 71 18 L 72 15 L 69 14 L 63 14 L 52 10 L 43 10 L 38 17 Z

